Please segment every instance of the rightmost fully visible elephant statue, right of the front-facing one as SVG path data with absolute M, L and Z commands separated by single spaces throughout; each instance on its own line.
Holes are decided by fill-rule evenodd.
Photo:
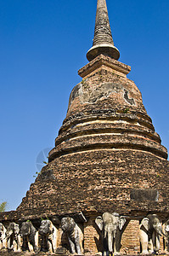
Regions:
M 160 250 L 160 236 L 165 236 L 162 224 L 156 214 L 149 214 L 139 225 L 142 254 L 157 253 Z

